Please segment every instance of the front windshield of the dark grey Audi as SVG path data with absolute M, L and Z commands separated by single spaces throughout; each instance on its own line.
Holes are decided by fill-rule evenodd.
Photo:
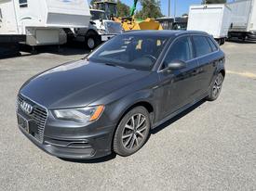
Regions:
M 152 70 L 168 41 L 163 36 L 122 34 L 106 42 L 88 60 L 136 70 Z

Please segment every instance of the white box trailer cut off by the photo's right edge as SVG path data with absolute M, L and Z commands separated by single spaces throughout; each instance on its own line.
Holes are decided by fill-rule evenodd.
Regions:
M 227 5 L 232 10 L 229 36 L 256 40 L 256 1 L 236 0 Z

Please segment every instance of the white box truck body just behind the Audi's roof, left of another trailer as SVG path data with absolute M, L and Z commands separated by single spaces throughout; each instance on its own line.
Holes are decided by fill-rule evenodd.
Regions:
M 231 9 L 224 4 L 190 6 L 188 31 L 202 31 L 211 34 L 223 44 L 230 27 Z

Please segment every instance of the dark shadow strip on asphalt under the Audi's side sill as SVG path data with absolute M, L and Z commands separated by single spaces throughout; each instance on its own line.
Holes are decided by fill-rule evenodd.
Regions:
M 191 111 L 195 110 L 195 108 L 200 107 L 205 102 L 206 102 L 206 100 L 202 99 L 201 101 L 195 103 L 195 105 L 193 105 L 192 107 L 187 108 L 186 110 L 182 111 L 182 113 L 178 114 L 177 116 L 175 116 L 175 117 L 171 118 L 170 120 L 168 120 L 168 121 L 160 124 L 159 126 L 155 127 L 153 130 L 151 130 L 151 134 L 157 134 L 158 132 L 160 132 L 163 129 L 165 129 L 166 127 L 168 127 L 170 124 L 180 120 L 182 117 L 184 117 L 185 115 L 187 115 Z

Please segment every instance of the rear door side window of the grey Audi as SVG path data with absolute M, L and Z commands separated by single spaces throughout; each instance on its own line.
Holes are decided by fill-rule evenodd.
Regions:
M 195 44 L 196 57 L 201 57 L 212 52 L 206 37 L 196 35 L 193 37 L 193 40 Z

